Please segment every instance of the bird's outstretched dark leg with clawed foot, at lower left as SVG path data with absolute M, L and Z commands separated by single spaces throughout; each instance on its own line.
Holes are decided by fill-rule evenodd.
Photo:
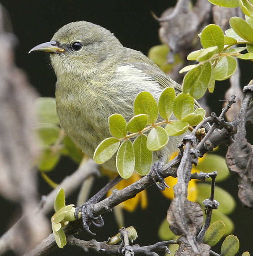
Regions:
M 123 178 L 121 178 L 119 175 L 115 177 L 113 180 L 108 182 L 101 190 L 99 190 L 98 193 L 96 193 L 93 197 L 91 197 L 86 203 L 84 203 L 81 206 L 76 207 L 74 216 L 76 219 L 78 219 L 78 213 L 81 211 L 81 217 L 82 217 L 82 223 L 83 227 L 86 231 L 88 231 L 90 234 L 95 235 L 93 232 L 90 231 L 89 225 L 87 224 L 87 221 L 89 220 L 97 227 L 102 227 L 104 225 L 104 221 L 99 215 L 98 217 L 95 217 L 93 213 L 91 212 L 91 206 L 97 203 L 113 186 L 118 184 Z

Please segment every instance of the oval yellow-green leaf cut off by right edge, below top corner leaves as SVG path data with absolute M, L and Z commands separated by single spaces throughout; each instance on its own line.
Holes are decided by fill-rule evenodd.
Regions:
M 237 35 L 246 41 L 253 43 L 253 28 L 242 18 L 232 17 L 229 20 L 231 28 Z

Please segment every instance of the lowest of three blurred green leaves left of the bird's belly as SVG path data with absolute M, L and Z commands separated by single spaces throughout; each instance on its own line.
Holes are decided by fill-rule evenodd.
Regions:
M 59 152 L 52 152 L 51 148 L 46 148 L 39 157 L 38 168 L 40 171 L 51 171 L 60 159 Z

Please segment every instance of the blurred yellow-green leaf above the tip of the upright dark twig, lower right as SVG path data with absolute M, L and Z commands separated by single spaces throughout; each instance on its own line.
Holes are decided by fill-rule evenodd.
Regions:
M 222 181 L 230 175 L 226 160 L 215 154 L 205 154 L 203 161 L 200 161 L 196 168 L 202 172 L 217 171 L 216 182 Z

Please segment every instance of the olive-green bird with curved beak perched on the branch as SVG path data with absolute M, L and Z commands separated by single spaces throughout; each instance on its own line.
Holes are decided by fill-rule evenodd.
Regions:
M 148 91 L 156 100 L 169 86 L 181 92 L 181 85 L 152 60 L 124 47 L 109 30 L 90 22 L 69 23 L 50 42 L 30 51 L 50 53 L 57 77 L 55 96 L 60 125 L 90 158 L 98 144 L 110 137 L 108 117 L 119 113 L 129 121 L 139 92 Z M 180 142 L 180 137 L 171 137 L 166 148 L 154 154 L 166 160 Z M 102 166 L 116 172 L 115 158 Z M 81 214 L 85 222 L 84 211 Z

